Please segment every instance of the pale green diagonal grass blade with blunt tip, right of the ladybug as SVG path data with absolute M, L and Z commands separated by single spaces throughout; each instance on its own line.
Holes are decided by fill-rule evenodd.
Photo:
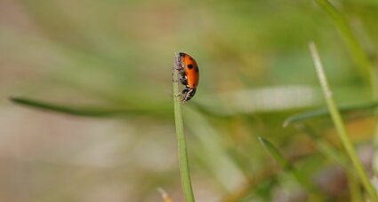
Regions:
M 336 104 L 334 103 L 334 97 L 332 96 L 332 91 L 328 87 L 328 82 L 326 81 L 326 74 L 324 73 L 323 65 L 319 58 L 315 43 L 310 43 L 310 51 L 311 56 L 314 60 L 315 68 L 317 70 L 320 85 L 326 98 L 326 105 L 328 106 L 328 110 L 331 113 L 332 120 L 334 121 L 334 127 L 338 132 L 339 138 L 342 141 L 342 145 L 344 146 L 345 151 L 350 157 L 353 166 L 356 168 L 358 177 L 361 183 L 364 185 L 367 193 L 369 194 L 369 197 L 372 199 L 372 201 L 378 201 L 378 197 L 374 190 L 374 187 L 366 175 L 365 168 L 362 166 L 361 161 L 358 159 L 356 150 L 354 149 L 354 146 L 350 141 L 350 138 L 342 121 L 342 116 L 340 112 L 337 110 Z

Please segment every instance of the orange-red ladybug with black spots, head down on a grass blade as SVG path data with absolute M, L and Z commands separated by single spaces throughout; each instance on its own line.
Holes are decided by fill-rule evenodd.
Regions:
M 185 86 L 182 90 L 182 102 L 189 101 L 196 94 L 199 69 L 196 60 L 187 53 L 179 52 L 176 55 L 176 70 L 179 71 L 180 82 Z

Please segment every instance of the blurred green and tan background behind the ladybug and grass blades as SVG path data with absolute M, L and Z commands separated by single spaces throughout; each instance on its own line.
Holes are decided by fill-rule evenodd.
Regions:
M 377 2 L 332 3 L 374 61 Z M 282 126 L 325 105 L 311 40 L 337 103 L 371 102 L 345 40 L 314 1 L 1 0 L 0 201 L 162 201 L 157 187 L 183 201 L 172 99 L 177 51 L 200 69 L 197 95 L 183 105 L 197 201 L 306 198 L 258 136 L 292 158 L 320 195 L 349 199 L 342 169 L 308 136 Z M 15 105 L 14 96 L 137 111 L 74 116 Z M 311 124 L 340 146 L 331 120 Z M 353 119 L 348 128 L 368 163 L 374 120 Z

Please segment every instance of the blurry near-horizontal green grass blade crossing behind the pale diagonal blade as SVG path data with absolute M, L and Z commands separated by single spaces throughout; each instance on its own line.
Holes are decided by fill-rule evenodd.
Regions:
M 339 107 L 340 113 L 366 113 L 367 115 L 374 115 L 374 110 L 377 108 L 378 103 L 367 103 L 359 105 L 350 105 Z M 316 118 L 329 117 L 330 113 L 328 108 L 321 108 L 317 110 L 311 110 L 304 113 L 297 113 L 292 116 L 289 116 L 285 121 L 283 126 L 287 127 L 290 124 L 302 122 L 305 120 L 311 120 Z

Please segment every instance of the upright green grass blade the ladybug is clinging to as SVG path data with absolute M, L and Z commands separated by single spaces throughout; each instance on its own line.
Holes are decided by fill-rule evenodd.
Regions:
M 176 54 L 174 57 L 174 67 L 178 66 L 178 57 L 179 55 Z M 173 69 L 173 81 L 178 81 L 179 74 L 178 71 Z M 173 82 L 173 106 L 174 106 L 174 122 L 176 125 L 176 135 L 177 135 L 177 143 L 178 143 L 178 150 L 179 150 L 179 166 L 180 166 L 180 174 L 181 174 L 181 184 L 182 189 L 184 191 L 185 200 L 187 202 L 194 202 L 194 194 L 193 189 L 191 186 L 190 180 L 190 171 L 189 171 L 189 159 L 188 159 L 188 151 L 187 151 L 187 144 L 185 141 L 184 135 L 184 126 L 182 120 L 182 113 L 181 113 L 181 98 L 175 95 L 179 95 L 180 93 L 180 83 Z

